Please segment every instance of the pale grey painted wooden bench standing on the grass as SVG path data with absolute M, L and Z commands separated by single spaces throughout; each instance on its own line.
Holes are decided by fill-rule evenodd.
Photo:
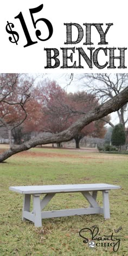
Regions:
M 111 189 L 119 189 L 118 185 L 110 184 L 68 184 L 68 185 L 32 185 L 9 187 L 10 190 L 24 194 L 22 220 L 33 221 L 36 227 L 42 226 L 42 219 L 49 217 L 62 217 L 83 214 L 104 214 L 105 219 L 110 219 L 110 206 L 108 192 Z M 103 193 L 103 207 L 97 203 L 97 192 Z M 73 193 L 81 192 L 85 199 L 89 202 L 88 208 L 51 210 L 41 212 L 47 203 L 56 193 Z M 91 193 L 90 193 L 91 192 Z M 46 194 L 42 200 L 40 195 Z M 30 199 L 33 196 L 33 211 L 30 212 Z

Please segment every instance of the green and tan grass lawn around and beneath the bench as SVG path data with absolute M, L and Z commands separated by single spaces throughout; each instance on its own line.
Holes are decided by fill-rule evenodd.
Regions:
M 6 163 L 1 163 L 0 255 L 128 255 L 127 163 L 127 155 L 39 148 L 18 153 Z M 121 185 L 121 189 L 110 191 L 111 219 L 104 220 L 100 214 L 44 219 L 41 228 L 21 220 L 23 196 L 9 191 L 9 186 L 68 183 Z M 100 193 L 98 202 L 102 204 Z M 81 194 L 67 193 L 56 195 L 46 209 L 87 206 Z M 99 236 L 112 233 L 119 236 L 121 241 L 117 252 L 113 252 L 112 246 L 101 246 L 101 242 L 110 241 L 100 241 L 100 246 L 92 249 L 83 242 L 79 236 L 80 229 L 93 229 L 93 226 L 99 228 Z M 91 234 L 87 234 L 86 237 L 91 239 Z

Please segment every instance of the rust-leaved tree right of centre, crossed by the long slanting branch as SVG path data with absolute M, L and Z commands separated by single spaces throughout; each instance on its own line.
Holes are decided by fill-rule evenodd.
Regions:
M 69 99 L 69 109 L 72 112 L 71 124 L 82 117 L 84 114 L 88 113 L 94 106 L 98 106 L 98 99 L 87 94 L 85 91 L 70 93 L 68 95 Z M 89 125 L 85 126 L 78 134 L 74 136 L 76 148 L 80 148 L 80 140 L 85 136 L 93 136 L 103 138 L 106 132 L 104 127 L 105 122 L 102 120 L 93 121 Z

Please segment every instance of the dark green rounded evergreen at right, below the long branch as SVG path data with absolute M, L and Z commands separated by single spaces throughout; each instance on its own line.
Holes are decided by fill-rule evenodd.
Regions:
M 121 149 L 121 145 L 125 144 L 126 136 L 124 126 L 122 124 L 117 124 L 114 126 L 111 140 L 112 145 L 118 146 L 119 150 Z

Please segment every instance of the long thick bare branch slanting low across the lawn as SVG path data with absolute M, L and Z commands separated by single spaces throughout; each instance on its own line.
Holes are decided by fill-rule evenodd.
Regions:
M 67 130 L 62 131 L 60 133 L 56 133 L 54 135 L 43 135 L 42 137 L 36 137 L 34 139 L 28 140 L 28 142 L 24 142 L 21 145 L 14 145 L 5 152 L 3 152 L 0 156 L 0 162 L 3 162 L 5 159 L 10 156 L 28 150 L 36 145 L 48 144 L 48 143 L 60 143 L 66 142 L 82 130 L 86 125 L 91 123 L 92 121 L 101 119 L 108 114 L 118 111 L 122 106 L 124 106 L 128 102 L 128 86 L 121 91 L 117 96 L 112 99 L 106 101 L 106 103 L 101 104 L 98 107 L 93 108 L 93 110 L 89 111 L 85 116 L 81 117 L 79 120 L 75 121 Z

